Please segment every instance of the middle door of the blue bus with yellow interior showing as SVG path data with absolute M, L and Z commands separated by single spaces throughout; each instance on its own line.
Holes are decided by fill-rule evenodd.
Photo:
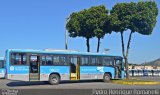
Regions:
M 80 79 L 80 58 L 70 58 L 70 80 Z

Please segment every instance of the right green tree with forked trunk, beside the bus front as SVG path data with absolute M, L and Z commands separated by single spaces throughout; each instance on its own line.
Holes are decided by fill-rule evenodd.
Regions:
M 142 35 L 150 35 L 155 27 L 157 15 L 158 8 L 154 1 L 118 3 L 111 10 L 112 29 L 121 34 L 122 54 L 125 60 L 127 78 L 129 78 L 128 54 L 132 34 L 137 32 Z M 126 30 L 130 30 L 130 34 L 125 50 L 123 34 Z

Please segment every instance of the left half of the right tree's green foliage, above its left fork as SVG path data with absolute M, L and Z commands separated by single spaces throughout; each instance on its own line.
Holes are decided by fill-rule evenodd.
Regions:
M 118 3 L 111 10 L 111 26 L 115 32 L 123 32 L 130 26 L 130 20 L 136 13 L 136 3 Z

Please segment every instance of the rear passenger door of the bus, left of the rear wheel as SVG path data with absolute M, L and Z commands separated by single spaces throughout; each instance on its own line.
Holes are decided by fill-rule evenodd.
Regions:
M 31 55 L 29 56 L 29 80 L 39 81 L 40 80 L 40 56 Z

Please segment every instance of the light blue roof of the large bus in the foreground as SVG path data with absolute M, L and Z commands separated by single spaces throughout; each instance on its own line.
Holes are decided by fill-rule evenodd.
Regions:
M 43 53 L 43 54 L 75 54 L 75 55 L 95 55 L 95 56 L 111 56 L 122 58 L 121 56 L 107 55 L 105 53 L 78 52 L 72 50 L 35 50 L 35 49 L 8 49 L 7 52 L 23 52 L 23 53 Z

